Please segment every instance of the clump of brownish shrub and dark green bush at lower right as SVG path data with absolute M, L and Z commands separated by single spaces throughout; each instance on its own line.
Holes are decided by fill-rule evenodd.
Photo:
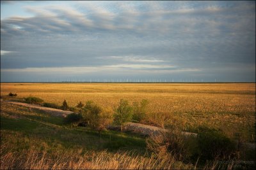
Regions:
M 147 148 L 156 154 L 171 154 L 176 160 L 200 158 L 201 164 L 213 160 L 236 159 L 234 143 L 222 132 L 208 127 L 199 127 L 196 137 L 186 136 L 178 129 L 150 136 Z

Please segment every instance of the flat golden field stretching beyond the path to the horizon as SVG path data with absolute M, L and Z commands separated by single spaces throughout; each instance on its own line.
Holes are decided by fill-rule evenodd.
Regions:
M 1 83 L 1 96 L 10 92 L 59 105 L 66 99 L 70 106 L 90 100 L 115 108 L 120 99 L 148 99 L 157 125 L 207 125 L 255 141 L 255 83 Z

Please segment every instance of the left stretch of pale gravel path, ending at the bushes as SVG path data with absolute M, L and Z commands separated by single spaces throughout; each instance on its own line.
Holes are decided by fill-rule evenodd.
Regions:
M 20 102 L 15 102 L 15 101 L 3 101 L 3 100 L 1 100 L 1 103 L 2 102 L 6 102 L 6 103 L 10 103 L 10 104 L 17 104 L 19 106 L 25 106 L 25 107 L 28 107 L 28 108 L 35 108 L 35 109 L 38 109 L 38 110 L 45 111 L 47 113 L 51 113 L 51 115 L 56 116 L 56 117 L 66 117 L 68 114 L 74 113 L 72 111 L 65 111 L 65 110 L 58 110 L 58 109 L 54 109 L 54 108 L 47 108 L 47 107 L 39 106 L 39 105 L 36 105 L 36 104 L 28 104 L 28 103 L 20 103 Z

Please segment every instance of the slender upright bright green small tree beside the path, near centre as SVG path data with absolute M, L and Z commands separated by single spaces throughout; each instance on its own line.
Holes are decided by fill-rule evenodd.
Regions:
M 123 125 L 131 119 L 132 106 L 129 105 L 128 101 L 121 99 L 118 108 L 115 110 L 114 122 L 116 125 L 120 125 L 121 131 L 123 131 Z

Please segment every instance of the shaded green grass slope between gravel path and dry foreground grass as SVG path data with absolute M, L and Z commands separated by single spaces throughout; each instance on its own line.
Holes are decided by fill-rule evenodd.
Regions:
M 63 118 L 52 117 L 40 110 L 31 110 L 22 106 L 3 103 L 1 110 L 1 143 L 11 148 L 33 147 L 52 151 L 55 147 L 62 149 L 83 148 L 85 150 L 136 150 L 144 153 L 145 138 L 136 134 L 125 134 L 115 131 L 104 131 L 99 136 L 88 127 L 72 127 L 63 124 Z M 15 109 L 19 110 L 16 112 Z M 33 112 L 33 114 L 31 113 Z M 11 117 L 12 116 L 12 117 Z M 13 136 L 13 134 L 15 135 Z M 8 136 L 8 138 L 4 138 Z M 40 142 L 38 142 L 38 140 Z M 42 143 L 42 144 L 40 144 Z

